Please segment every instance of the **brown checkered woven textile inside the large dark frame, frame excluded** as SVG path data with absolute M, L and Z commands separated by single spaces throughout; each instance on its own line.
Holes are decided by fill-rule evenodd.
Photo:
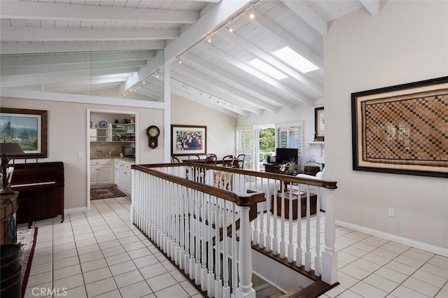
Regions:
M 363 101 L 363 160 L 448 166 L 448 90 Z

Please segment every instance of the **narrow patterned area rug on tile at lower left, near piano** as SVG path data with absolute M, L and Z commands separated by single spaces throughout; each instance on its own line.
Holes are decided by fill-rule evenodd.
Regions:
M 34 229 L 20 229 L 17 232 L 17 242 L 20 243 L 20 265 L 22 266 L 22 298 L 25 296 L 29 271 L 33 262 L 34 248 L 36 248 L 37 227 Z

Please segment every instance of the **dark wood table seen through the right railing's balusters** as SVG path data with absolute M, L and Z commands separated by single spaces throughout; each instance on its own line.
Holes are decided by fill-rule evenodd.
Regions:
M 271 213 L 274 213 L 274 201 L 277 204 L 277 216 L 281 216 L 281 192 L 277 192 L 276 196 L 271 197 Z M 297 220 L 297 202 L 299 196 L 293 194 L 293 220 Z M 310 214 L 316 214 L 317 194 L 309 193 Z M 307 193 L 300 195 L 300 213 L 302 218 L 307 215 Z M 285 218 L 289 219 L 289 192 L 285 192 Z

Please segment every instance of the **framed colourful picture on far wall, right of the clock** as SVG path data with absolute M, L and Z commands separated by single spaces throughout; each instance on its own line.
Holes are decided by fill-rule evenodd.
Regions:
M 207 126 L 171 125 L 171 155 L 206 155 Z

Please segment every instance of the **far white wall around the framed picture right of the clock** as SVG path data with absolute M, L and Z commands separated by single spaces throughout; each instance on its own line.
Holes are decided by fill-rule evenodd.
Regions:
M 207 153 L 218 159 L 235 154 L 235 127 L 237 119 L 172 94 L 171 121 L 174 125 L 207 125 Z M 186 157 L 181 157 L 186 159 Z

